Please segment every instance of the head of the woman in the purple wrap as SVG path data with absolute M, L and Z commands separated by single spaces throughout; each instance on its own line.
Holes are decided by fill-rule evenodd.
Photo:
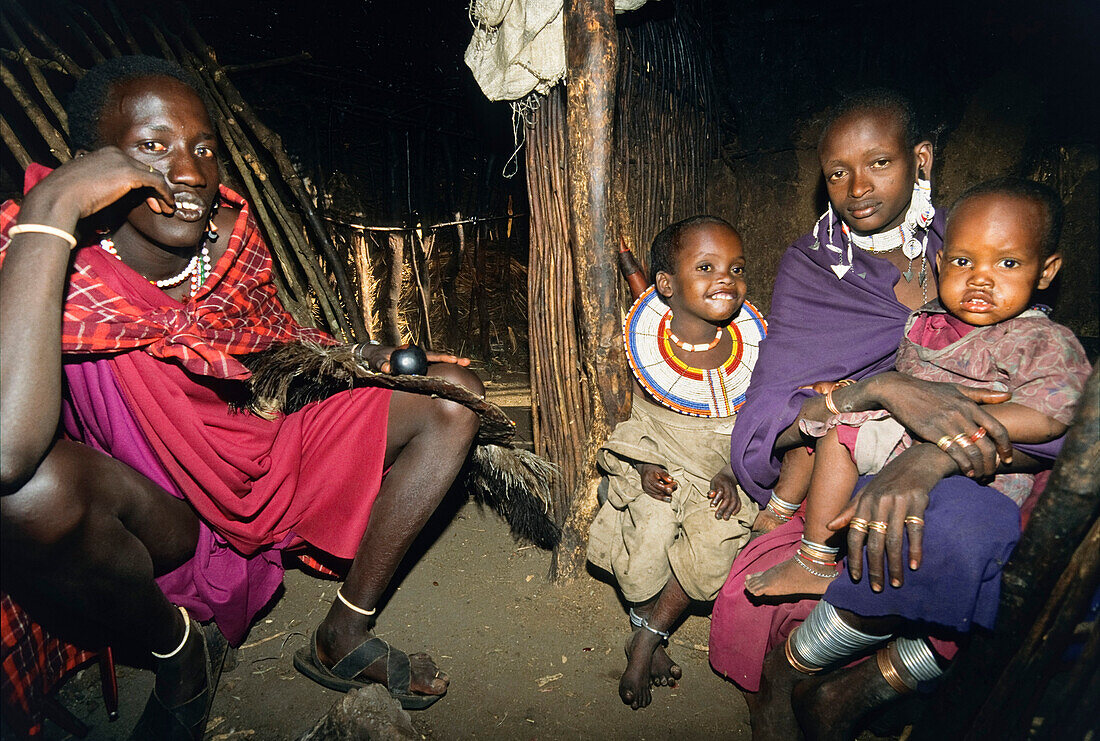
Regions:
M 913 106 L 880 88 L 849 96 L 831 111 L 817 155 L 833 209 L 859 234 L 901 224 L 917 176 L 932 172 L 932 143 L 921 135 Z

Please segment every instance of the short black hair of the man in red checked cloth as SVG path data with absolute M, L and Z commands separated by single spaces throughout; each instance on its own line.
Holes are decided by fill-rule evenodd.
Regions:
M 141 77 L 170 77 L 206 98 L 195 79 L 174 62 L 152 56 L 120 56 L 98 64 L 76 82 L 65 112 L 69 122 L 69 145 L 73 151 L 99 146 L 99 120 L 103 106 L 111 99 L 116 85 Z

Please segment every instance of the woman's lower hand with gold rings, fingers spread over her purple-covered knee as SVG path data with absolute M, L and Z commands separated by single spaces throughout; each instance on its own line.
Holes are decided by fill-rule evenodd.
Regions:
M 928 493 L 939 479 L 957 471 L 952 456 L 932 443 L 919 443 L 883 466 L 860 489 L 848 507 L 828 523 L 829 530 L 848 527 L 848 575 L 853 582 L 862 577 L 862 551 L 866 545 L 871 589 L 882 591 L 883 552 L 890 571 L 890 584 L 894 587 L 904 584 L 903 530 L 909 533 L 909 567 L 913 571 L 921 567 L 923 518 L 928 506 Z M 854 520 L 862 521 L 864 528 L 853 527 Z

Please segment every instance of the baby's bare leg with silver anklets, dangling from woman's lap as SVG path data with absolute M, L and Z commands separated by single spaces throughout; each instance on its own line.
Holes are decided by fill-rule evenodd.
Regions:
M 758 597 L 823 595 L 836 576 L 836 546 L 840 538 L 826 526 L 840 513 L 859 477 L 848 449 L 835 429 L 817 442 L 806 501 L 802 546 L 791 558 L 766 572 L 750 574 L 745 589 Z

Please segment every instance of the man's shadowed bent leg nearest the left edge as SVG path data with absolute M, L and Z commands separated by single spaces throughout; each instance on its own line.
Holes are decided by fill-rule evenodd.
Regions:
M 19 491 L 0 498 L 3 584 L 46 624 L 94 624 L 113 646 L 170 653 L 185 623 L 154 582 L 195 554 L 198 519 L 130 466 L 57 442 Z M 193 631 L 194 633 L 194 631 Z M 201 634 L 156 662 L 168 707 L 206 682 Z

